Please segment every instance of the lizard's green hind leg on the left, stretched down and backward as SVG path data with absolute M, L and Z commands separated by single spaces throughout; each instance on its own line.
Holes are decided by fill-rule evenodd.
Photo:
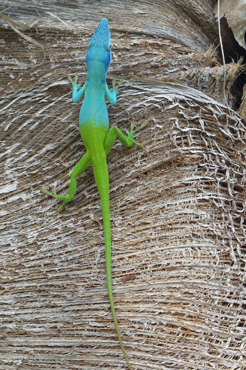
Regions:
M 69 190 L 68 195 L 58 195 L 56 194 L 55 188 L 52 188 L 52 193 L 45 190 L 44 188 L 40 188 L 40 191 L 46 195 L 53 196 L 53 198 L 60 199 L 63 201 L 62 205 L 58 208 L 58 212 L 62 211 L 62 208 L 64 205 L 71 201 L 73 197 L 75 196 L 76 192 L 76 178 L 77 176 L 81 175 L 91 164 L 91 158 L 88 153 L 84 154 L 83 157 L 79 160 L 79 162 L 76 164 L 75 168 L 72 170 L 71 178 L 69 182 Z

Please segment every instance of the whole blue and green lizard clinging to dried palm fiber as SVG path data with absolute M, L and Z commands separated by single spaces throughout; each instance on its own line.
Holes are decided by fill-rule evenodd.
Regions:
M 72 83 L 73 102 L 77 102 L 84 97 L 79 114 L 79 128 L 82 141 L 86 148 L 86 153 L 72 170 L 68 195 L 58 195 L 55 188 L 52 188 L 52 192 L 48 192 L 44 188 L 40 188 L 40 190 L 46 195 L 53 196 L 54 198 L 63 201 L 62 205 L 58 208 L 58 212 L 60 212 L 62 211 L 63 206 L 67 202 L 71 201 L 75 195 L 76 178 L 92 165 L 94 179 L 101 199 L 101 209 L 103 214 L 106 275 L 111 313 L 121 350 L 125 360 L 127 361 L 128 368 L 132 370 L 122 343 L 112 295 L 109 178 L 106 157 L 111 151 L 116 137 L 118 137 L 121 144 L 125 147 L 132 147 L 133 144 L 136 144 L 140 148 L 143 148 L 141 144 L 134 140 L 134 134 L 141 128 L 145 127 L 147 122 L 143 122 L 139 128 L 134 130 L 135 122 L 132 121 L 130 132 L 126 130 L 128 134 L 127 136 L 125 136 L 117 126 L 109 128 L 106 100 L 114 106 L 117 103 L 118 88 L 122 84 L 121 80 L 116 86 L 115 80 L 113 80 L 112 88 L 108 88 L 106 78 L 110 63 L 110 29 L 108 20 L 103 18 L 98 24 L 97 29 L 88 44 L 88 51 L 86 53 L 87 74 L 83 87 L 78 91 L 77 74 L 75 74 L 74 81 L 70 75 L 67 75 L 68 80 Z

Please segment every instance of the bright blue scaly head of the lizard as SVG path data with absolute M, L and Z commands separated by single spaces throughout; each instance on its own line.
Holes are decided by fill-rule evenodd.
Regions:
M 108 70 L 111 62 L 111 38 L 107 18 L 102 18 L 94 32 L 86 54 L 86 64 L 101 62 Z

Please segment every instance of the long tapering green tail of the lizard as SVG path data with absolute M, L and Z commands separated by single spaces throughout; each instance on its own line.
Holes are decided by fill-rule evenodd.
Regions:
M 93 164 L 94 178 L 96 181 L 97 189 L 101 199 L 102 213 L 103 213 L 103 228 L 104 228 L 104 242 L 105 242 L 105 258 L 106 258 L 106 274 L 108 284 L 108 297 L 110 301 L 111 313 L 114 320 L 115 330 L 119 339 L 122 352 L 125 360 L 127 361 L 128 367 L 132 370 L 132 367 L 127 358 L 126 351 L 124 349 L 121 333 L 119 331 L 117 318 L 114 309 L 114 299 L 112 293 L 112 277 L 111 277 L 111 227 L 110 227 L 110 205 L 109 205 L 109 182 L 108 182 L 108 168 L 105 157 L 101 157 L 96 163 Z

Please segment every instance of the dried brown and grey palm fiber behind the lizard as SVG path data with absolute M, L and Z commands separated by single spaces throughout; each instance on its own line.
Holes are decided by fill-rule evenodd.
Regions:
M 124 79 L 110 123 L 149 121 L 137 135 L 146 151 L 117 141 L 108 155 L 115 307 L 133 369 L 245 369 L 245 122 L 216 99 L 214 1 L 175 3 L 32 5 L 88 40 L 108 17 L 108 84 Z M 30 12 L 6 14 L 31 22 Z M 93 172 L 62 214 L 38 190 L 64 194 L 84 152 L 66 74 L 84 81 L 87 43 L 48 19 L 23 29 L 44 45 L 35 67 L 42 53 L 0 30 L 1 368 L 126 369 Z

